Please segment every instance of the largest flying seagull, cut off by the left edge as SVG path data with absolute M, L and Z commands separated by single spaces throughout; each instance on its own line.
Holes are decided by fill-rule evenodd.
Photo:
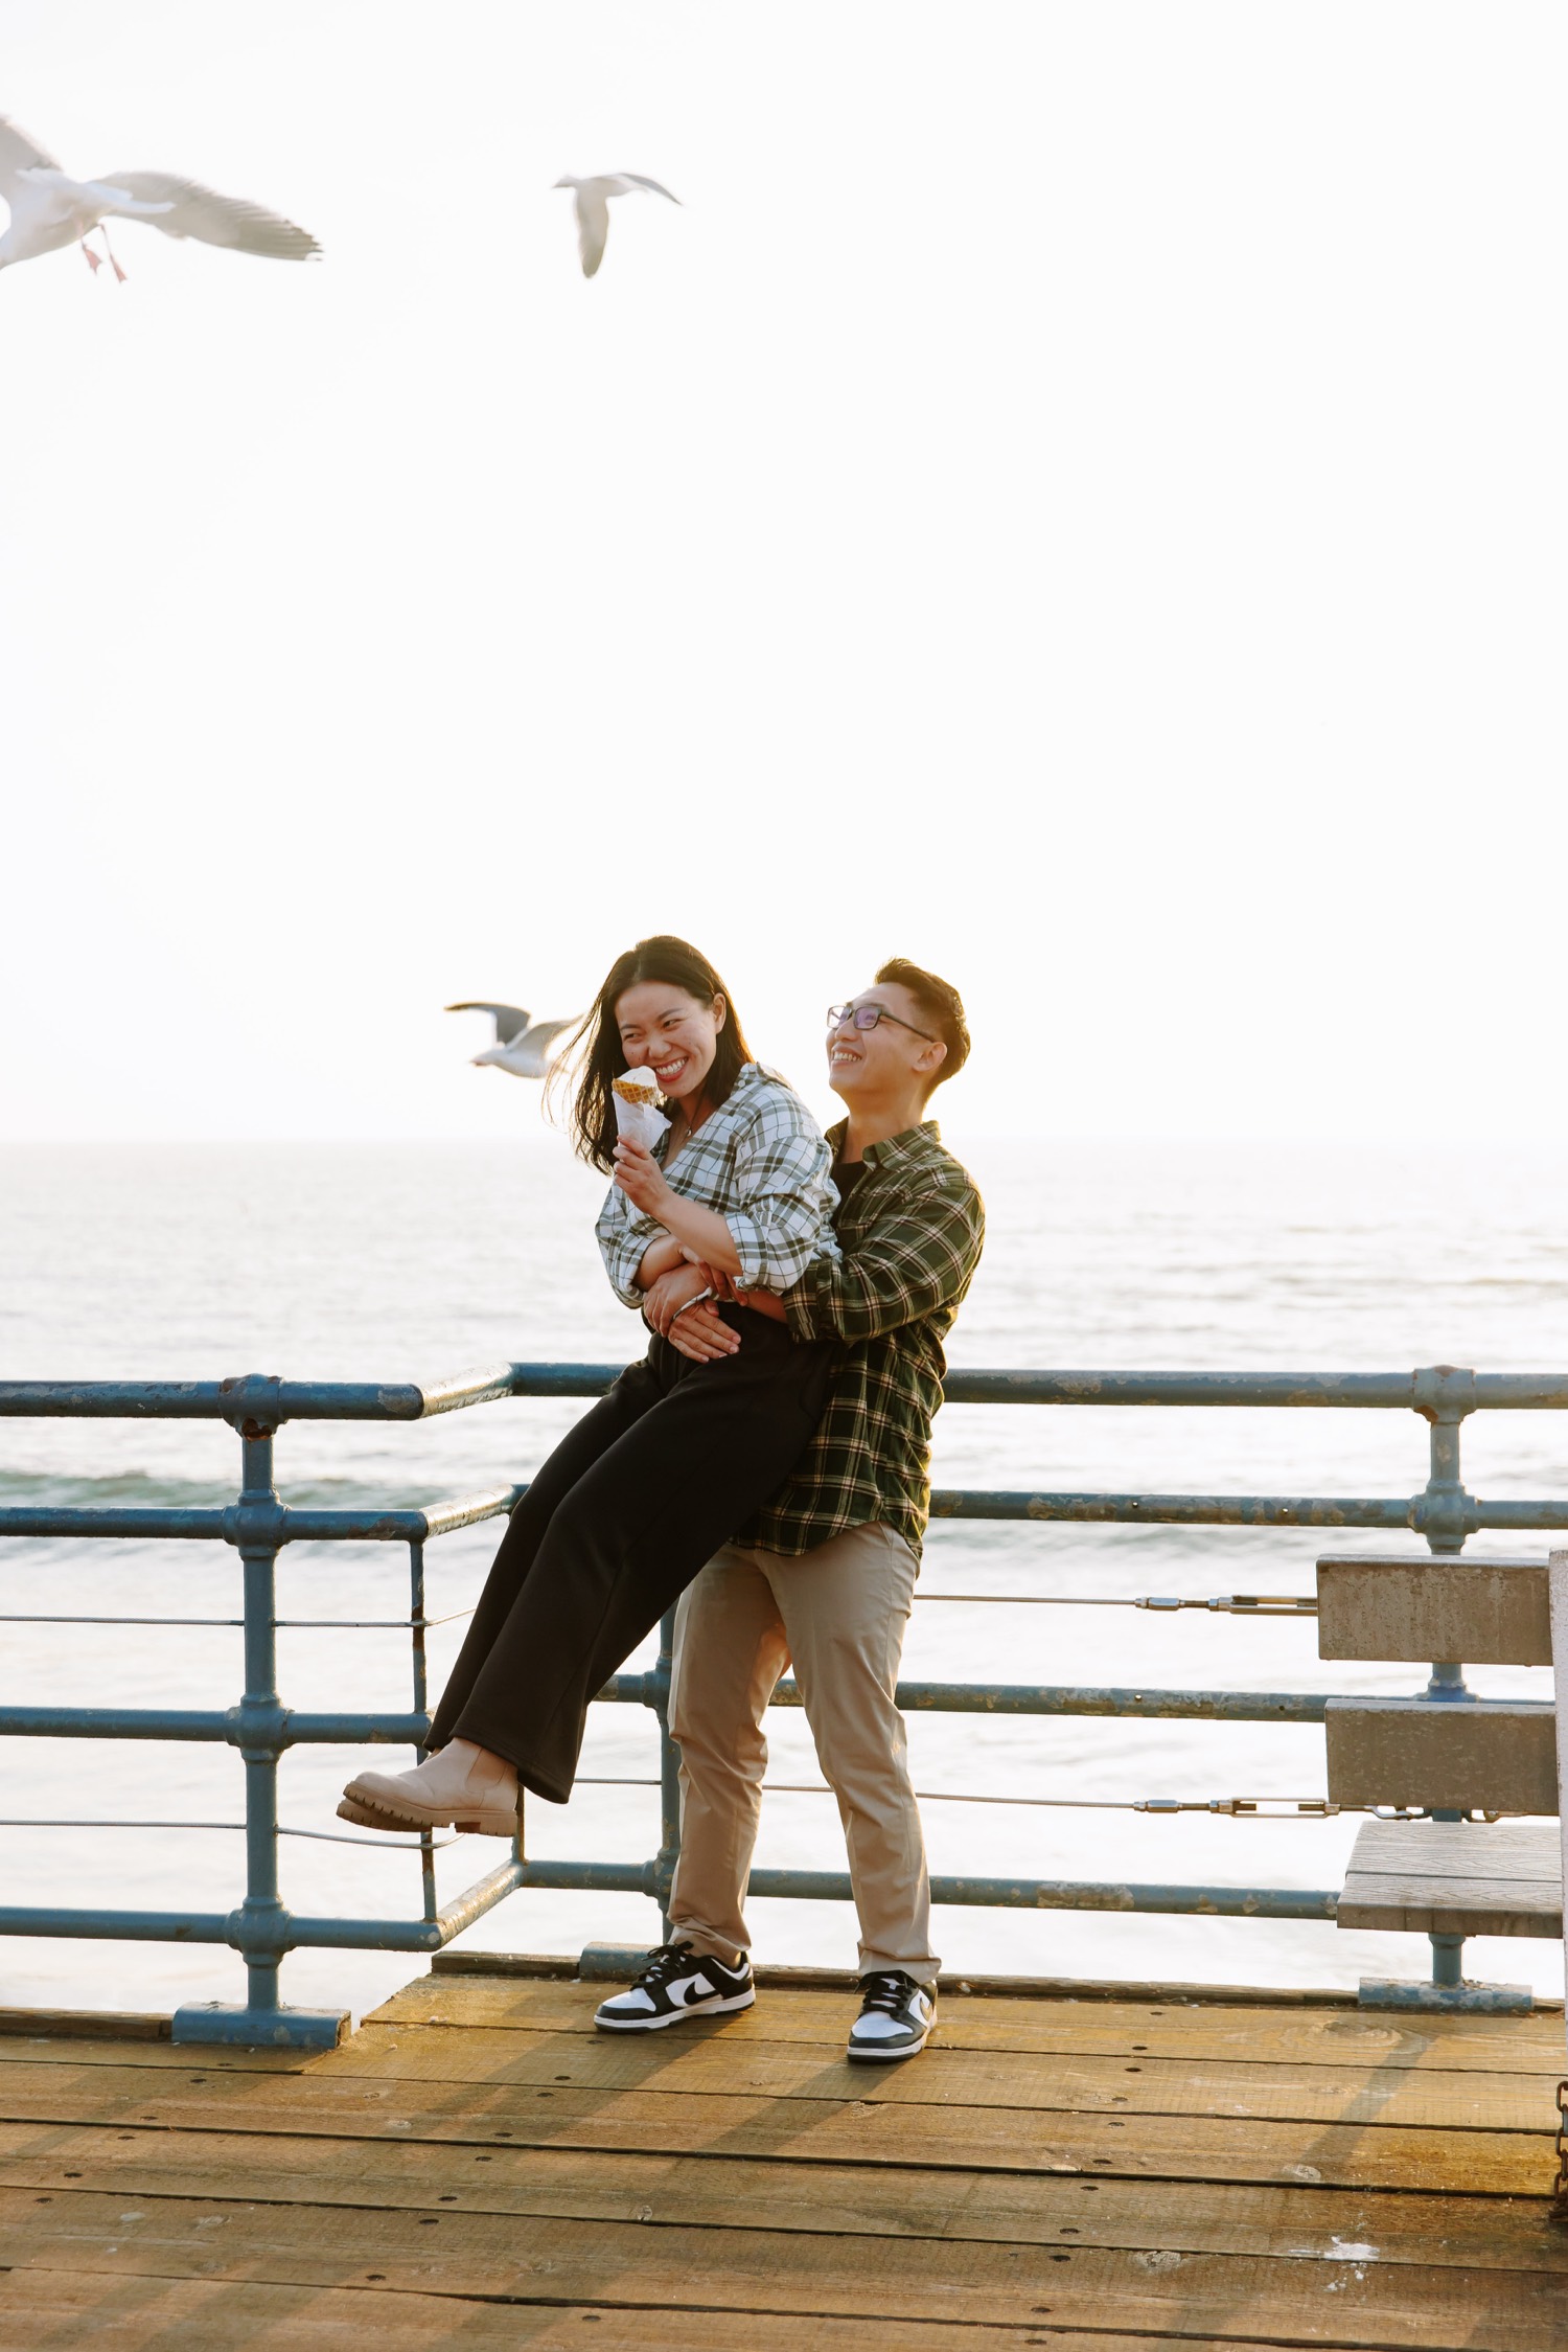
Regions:
M 320 254 L 315 238 L 280 212 L 219 195 L 197 179 L 174 179 L 172 172 L 71 179 L 9 115 L 0 115 L 0 195 L 12 207 L 12 226 L 0 238 L 0 270 L 12 261 L 54 254 L 61 245 L 80 245 L 94 278 L 108 254 L 108 266 L 125 282 L 106 221 L 146 221 L 148 228 L 162 228 L 165 238 L 200 238 L 202 245 L 228 245 L 237 254 L 268 254 L 273 261 L 310 261 Z M 94 228 L 103 235 L 103 254 L 94 254 L 87 242 Z

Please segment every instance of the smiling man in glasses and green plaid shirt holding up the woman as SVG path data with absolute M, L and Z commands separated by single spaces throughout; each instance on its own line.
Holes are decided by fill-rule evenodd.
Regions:
M 649 2032 L 750 2009 L 743 1898 L 766 1769 L 762 1717 L 792 1663 L 839 1799 L 860 1917 L 849 2056 L 886 2060 L 914 2056 L 936 2016 L 926 1849 L 893 1691 L 931 1505 L 943 1338 L 980 1261 L 985 1214 L 926 1120 L 933 1089 L 969 1056 L 957 990 L 898 957 L 827 1023 L 827 1084 L 849 1112 L 827 1136 L 842 1258 L 818 1261 L 783 1301 L 748 1291 L 743 1303 L 799 1338 L 837 1338 L 839 1357 L 806 1454 L 682 1595 L 670 1943 L 595 2023 Z M 668 1336 L 698 1362 L 741 1345 L 712 1305 L 679 1305 Z

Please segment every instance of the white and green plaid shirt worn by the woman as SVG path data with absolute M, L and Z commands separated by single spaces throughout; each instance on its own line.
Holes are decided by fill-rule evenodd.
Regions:
M 654 1145 L 663 1167 L 670 1129 Z M 703 1120 L 665 1169 L 682 1200 L 717 1209 L 741 1258 L 738 1282 L 790 1291 L 818 1258 L 837 1258 L 832 1152 L 799 1094 L 778 1070 L 748 1061 L 729 1098 Z M 621 1185 L 609 1188 L 595 1235 L 616 1298 L 642 1305 L 637 1268 L 665 1228 L 644 1216 Z

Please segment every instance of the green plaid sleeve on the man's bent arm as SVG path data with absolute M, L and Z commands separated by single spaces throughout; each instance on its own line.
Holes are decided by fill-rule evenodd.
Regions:
M 969 1185 L 889 1209 L 849 1256 L 809 1265 L 785 1296 L 797 1338 L 877 1338 L 961 1298 L 980 1263 L 985 1209 Z

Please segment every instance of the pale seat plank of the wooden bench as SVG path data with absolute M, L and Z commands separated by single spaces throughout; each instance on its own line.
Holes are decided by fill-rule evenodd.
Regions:
M 1556 1938 L 1559 1825 L 1368 1820 L 1345 1872 L 1340 1926 Z

